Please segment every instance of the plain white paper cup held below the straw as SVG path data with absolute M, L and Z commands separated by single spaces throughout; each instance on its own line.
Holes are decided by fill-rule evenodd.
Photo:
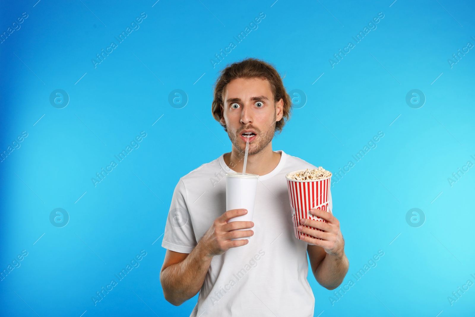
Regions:
M 237 216 L 228 220 L 232 221 L 252 221 L 254 215 L 254 203 L 256 202 L 257 174 L 226 173 L 226 211 L 232 209 L 246 209 L 247 214 Z M 250 229 L 237 229 L 250 230 Z M 246 238 L 236 238 L 231 240 L 243 240 Z

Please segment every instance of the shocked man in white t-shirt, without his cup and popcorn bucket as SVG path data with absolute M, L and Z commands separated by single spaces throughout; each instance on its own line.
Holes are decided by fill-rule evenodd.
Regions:
M 199 292 L 190 317 L 314 316 L 307 281 L 307 252 L 315 279 L 338 287 L 348 271 L 339 221 L 329 210 L 311 210 L 328 221 L 303 220 L 295 239 L 285 174 L 314 165 L 272 151 L 291 110 L 276 69 L 248 58 L 221 71 L 212 113 L 232 143 L 231 152 L 180 178 L 171 201 L 162 246 L 167 249 L 160 279 L 171 304 Z M 250 133 L 250 137 L 249 137 Z M 259 175 L 253 221 L 228 220 L 246 210 L 226 211 L 226 173 Z M 307 143 L 306 141 L 301 141 Z M 245 229 L 245 230 L 236 230 Z M 244 238 L 231 240 L 232 238 Z

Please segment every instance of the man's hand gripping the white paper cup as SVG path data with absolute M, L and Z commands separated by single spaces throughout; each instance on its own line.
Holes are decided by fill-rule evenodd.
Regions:
M 252 221 L 231 221 L 229 219 L 247 214 L 246 209 L 232 209 L 216 218 L 208 231 L 199 240 L 205 245 L 203 248 L 208 257 L 223 254 L 231 248 L 246 245 L 249 240 L 231 240 L 234 238 L 250 237 L 254 235 L 252 230 L 236 230 L 254 227 Z

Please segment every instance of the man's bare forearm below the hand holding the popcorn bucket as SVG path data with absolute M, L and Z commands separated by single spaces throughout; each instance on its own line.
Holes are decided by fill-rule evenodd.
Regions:
M 335 289 L 342 284 L 348 267 L 349 261 L 344 252 L 340 256 L 327 253 L 315 269 L 314 277 L 323 287 Z

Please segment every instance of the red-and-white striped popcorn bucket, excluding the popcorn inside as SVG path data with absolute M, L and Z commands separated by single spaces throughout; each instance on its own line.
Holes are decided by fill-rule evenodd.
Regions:
M 327 178 L 322 178 L 314 181 L 296 181 L 290 179 L 290 175 L 294 175 L 297 172 L 305 171 L 298 170 L 290 172 L 285 175 L 287 180 L 287 187 L 289 190 L 290 207 L 292 208 L 292 223 L 294 225 L 295 238 L 300 240 L 300 235 L 315 238 L 311 235 L 303 233 L 297 230 L 297 226 L 300 225 L 301 219 L 311 219 L 316 221 L 323 221 L 320 217 L 314 216 L 310 213 L 312 208 L 320 208 L 321 210 L 328 211 L 328 201 L 330 198 L 330 180 L 332 175 Z M 306 228 L 316 229 L 305 225 Z M 320 229 L 317 229 L 322 231 Z M 319 238 L 320 239 L 320 238 Z M 322 240 L 322 239 L 320 239 Z

